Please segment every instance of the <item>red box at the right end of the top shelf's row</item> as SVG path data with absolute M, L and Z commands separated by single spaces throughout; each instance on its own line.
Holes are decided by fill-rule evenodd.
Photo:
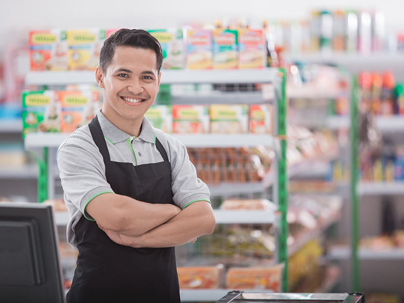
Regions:
M 238 30 L 238 67 L 266 67 L 265 35 L 262 29 L 242 28 Z

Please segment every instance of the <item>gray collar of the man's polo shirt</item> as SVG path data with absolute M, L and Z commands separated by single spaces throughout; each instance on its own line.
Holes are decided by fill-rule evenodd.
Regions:
M 99 125 L 103 130 L 104 136 L 112 143 L 115 144 L 118 142 L 122 142 L 131 137 L 130 135 L 116 127 L 114 124 L 112 124 L 111 121 L 108 120 L 107 117 L 105 117 L 104 114 L 101 112 L 101 109 L 98 109 L 97 117 Z M 149 143 L 156 143 L 155 131 L 146 117 L 143 117 L 142 130 L 140 132 L 139 139 L 142 139 L 143 141 Z

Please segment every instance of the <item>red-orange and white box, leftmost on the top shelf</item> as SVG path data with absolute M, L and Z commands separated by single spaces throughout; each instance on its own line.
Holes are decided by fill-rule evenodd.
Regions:
M 29 33 L 31 71 L 67 71 L 68 43 L 65 30 L 38 30 Z

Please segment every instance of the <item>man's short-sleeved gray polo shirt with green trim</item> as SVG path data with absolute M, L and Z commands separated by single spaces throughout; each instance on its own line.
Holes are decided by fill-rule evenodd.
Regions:
M 189 204 L 206 200 L 210 202 L 208 186 L 196 177 L 189 161 L 186 147 L 177 139 L 150 125 L 143 118 L 140 135 L 131 137 L 98 110 L 97 117 L 107 142 L 111 161 L 142 165 L 163 162 L 156 146 L 156 137 L 162 143 L 171 164 L 174 204 L 184 209 Z M 84 212 L 88 202 L 106 192 L 114 192 L 105 177 L 103 156 L 95 145 L 88 125 L 74 131 L 60 145 L 57 154 L 65 203 L 70 215 L 67 240 L 76 247 L 74 229 L 81 216 L 92 220 Z

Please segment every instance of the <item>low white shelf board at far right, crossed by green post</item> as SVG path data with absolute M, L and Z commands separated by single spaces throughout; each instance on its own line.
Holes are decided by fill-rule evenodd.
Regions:
M 350 258 L 351 250 L 349 246 L 339 245 L 328 250 L 327 258 L 336 260 L 347 260 Z M 392 248 L 375 250 L 369 248 L 359 248 L 358 256 L 361 260 L 404 260 L 404 249 Z

